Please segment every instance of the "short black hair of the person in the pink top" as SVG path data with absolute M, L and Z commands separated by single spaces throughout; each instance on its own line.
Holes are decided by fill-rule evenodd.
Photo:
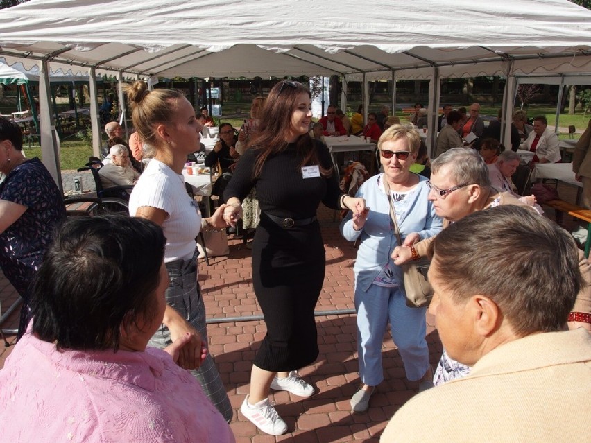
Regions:
M 35 275 L 33 333 L 58 349 L 119 349 L 123 320 L 153 318 L 166 238 L 150 220 L 70 218 Z

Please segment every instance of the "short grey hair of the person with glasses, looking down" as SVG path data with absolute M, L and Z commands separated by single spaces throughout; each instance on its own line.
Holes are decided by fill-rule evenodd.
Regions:
M 431 162 L 431 173 L 438 173 L 445 165 L 451 165 L 451 175 L 456 184 L 478 184 L 490 187 L 488 167 L 484 159 L 472 148 L 452 148 Z

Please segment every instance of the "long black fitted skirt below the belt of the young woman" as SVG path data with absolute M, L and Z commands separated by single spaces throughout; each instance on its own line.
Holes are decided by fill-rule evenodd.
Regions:
M 326 262 L 320 225 L 284 229 L 262 216 L 252 243 L 252 281 L 267 327 L 254 363 L 297 370 L 318 358 L 314 308 Z

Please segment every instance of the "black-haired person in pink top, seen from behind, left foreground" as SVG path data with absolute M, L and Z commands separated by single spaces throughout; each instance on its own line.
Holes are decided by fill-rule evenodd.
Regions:
M 155 223 L 73 218 L 33 284 L 33 320 L 0 371 L 2 440 L 234 442 L 187 367 L 207 349 L 189 335 L 147 348 L 169 278 Z M 31 426 L 35 423 L 35 426 Z

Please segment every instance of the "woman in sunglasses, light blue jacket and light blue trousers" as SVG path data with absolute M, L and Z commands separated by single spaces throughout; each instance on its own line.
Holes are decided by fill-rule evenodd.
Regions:
M 351 408 L 357 413 L 366 412 L 375 386 L 384 380 L 382 338 L 388 322 L 406 377 L 424 382 L 420 388 L 432 386 L 425 341 L 427 308 L 406 306 L 402 268 L 390 258 L 397 241 L 386 195 L 389 189 L 402 241 L 412 232 L 423 239 L 442 229 L 443 221 L 428 200 L 427 179 L 409 171 L 419 145 L 415 130 L 402 125 L 388 128 L 377 143 L 384 173 L 371 177 L 357 193 L 365 198 L 368 210 L 357 217 L 349 213 L 341 223 L 347 240 L 361 241 L 353 269 L 361 388 L 353 395 Z

